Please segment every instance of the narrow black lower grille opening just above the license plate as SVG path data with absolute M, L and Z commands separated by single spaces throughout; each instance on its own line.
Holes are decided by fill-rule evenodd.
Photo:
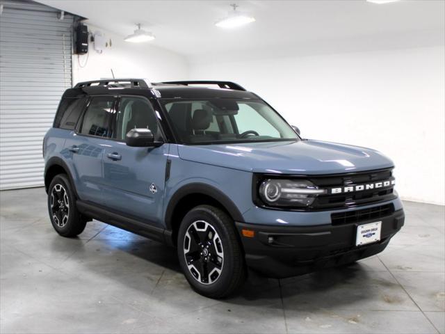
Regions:
M 394 213 L 394 205 L 380 205 L 378 207 L 370 207 L 368 209 L 360 209 L 346 212 L 331 214 L 332 225 L 343 225 L 348 223 L 359 223 L 369 221 L 371 219 L 380 219 L 390 216 Z

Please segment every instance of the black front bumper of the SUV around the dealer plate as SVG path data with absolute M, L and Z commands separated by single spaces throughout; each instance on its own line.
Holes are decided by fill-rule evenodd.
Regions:
M 380 253 L 405 221 L 403 209 L 382 221 L 380 241 L 355 246 L 357 226 L 371 221 L 343 225 L 277 226 L 236 223 L 248 267 L 272 278 L 298 276 L 326 267 L 347 264 Z M 254 231 L 243 237 L 241 230 Z

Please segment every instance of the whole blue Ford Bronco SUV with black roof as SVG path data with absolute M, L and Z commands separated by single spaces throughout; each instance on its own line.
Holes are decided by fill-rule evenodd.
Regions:
M 44 137 L 51 223 L 74 237 L 95 218 L 175 246 L 211 298 L 248 267 L 284 278 L 384 250 L 405 217 L 392 161 L 299 133 L 232 82 L 82 82 Z

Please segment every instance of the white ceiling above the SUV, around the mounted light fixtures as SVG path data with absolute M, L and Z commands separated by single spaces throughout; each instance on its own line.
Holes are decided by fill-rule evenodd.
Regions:
M 405 0 L 375 4 L 365 0 L 188 1 L 39 0 L 88 18 L 122 38 L 141 23 L 156 35 L 153 45 L 191 59 L 255 54 L 294 54 L 385 47 L 443 45 L 445 1 Z M 229 4 L 252 13 L 257 22 L 225 30 L 214 23 Z

